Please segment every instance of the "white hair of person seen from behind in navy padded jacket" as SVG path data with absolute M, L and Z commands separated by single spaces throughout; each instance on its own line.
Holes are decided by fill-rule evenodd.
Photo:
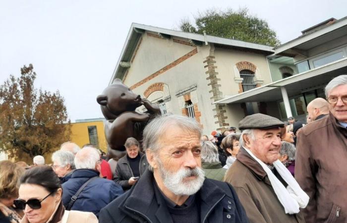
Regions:
M 100 155 L 93 147 L 85 147 L 78 151 L 74 159 L 76 169 L 95 169 L 100 162 Z

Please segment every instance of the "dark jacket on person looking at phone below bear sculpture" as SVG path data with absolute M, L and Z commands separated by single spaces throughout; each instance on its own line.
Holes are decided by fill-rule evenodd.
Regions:
M 147 157 L 144 153 L 139 152 L 139 155 L 141 156 L 139 171 L 140 175 L 142 175 L 142 173 L 148 168 L 148 162 Z M 131 185 L 129 185 L 128 183 L 128 180 L 130 179 L 130 177 L 133 176 L 134 174 L 131 171 L 127 155 L 125 155 L 122 158 L 120 158 L 117 162 L 114 180 L 123 188 L 123 190 L 128 190 L 131 187 Z

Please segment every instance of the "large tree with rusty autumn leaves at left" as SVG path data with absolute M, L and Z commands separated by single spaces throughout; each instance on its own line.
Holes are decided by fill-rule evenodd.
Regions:
M 0 150 L 11 158 L 45 155 L 70 136 L 64 99 L 35 89 L 33 69 L 24 65 L 0 86 Z

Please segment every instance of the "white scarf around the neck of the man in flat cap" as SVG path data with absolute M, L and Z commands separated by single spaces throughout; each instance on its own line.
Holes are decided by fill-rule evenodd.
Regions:
M 244 148 L 244 147 L 243 147 Z M 308 204 L 309 197 L 301 189 L 294 177 L 291 175 L 287 167 L 285 167 L 281 161 L 277 160 L 273 163 L 277 172 L 288 183 L 287 189 L 281 183 L 281 181 L 275 176 L 269 167 L 266 166 L 261 160 L 256 158 L 251 151 L 244 148 L 251 157 L 256 160 L 261 167 L 265 170 L 269 177 L 272 188 L 275 191 L 277 198 L 280 200 L 282 206 L 285 208 L 286 214 L 299 213 L 299 208 L 305 208 Z

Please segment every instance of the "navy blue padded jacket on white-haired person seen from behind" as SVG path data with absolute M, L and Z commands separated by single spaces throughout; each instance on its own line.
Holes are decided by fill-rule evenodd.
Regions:
M 76 169 L 71 178 L 62 184 L 62 202 L 66 207 L 71 197 L 90 178 L 99 176 L 93 169 Z M 97 217 L 100 209 L 123 194 L 122 188 L 112 180 L 96 178 L 89 182 L 78 195 L 71 210 L 93 212 Z

